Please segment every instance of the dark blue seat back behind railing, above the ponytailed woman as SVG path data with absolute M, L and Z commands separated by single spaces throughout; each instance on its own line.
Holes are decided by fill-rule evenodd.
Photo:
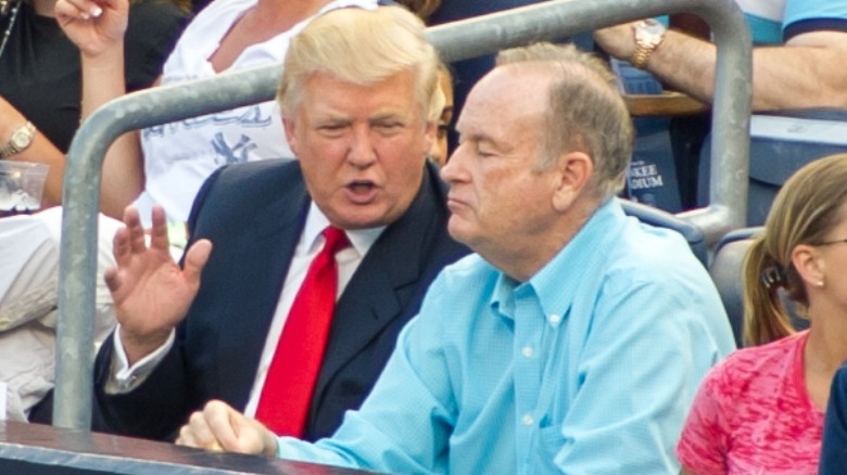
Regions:
M 708 200 L 709 143 L 707 139 L 700 153 L 700 204 Z M 747 226 L 764 223 L 776 192 L 797 169 L 836 153 L 847 153 L 847 110 L 797 110 L 753 116 Z

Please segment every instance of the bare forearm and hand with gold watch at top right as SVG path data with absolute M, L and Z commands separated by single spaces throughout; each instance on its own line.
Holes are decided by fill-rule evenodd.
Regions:
M 595 31 L 595 40 L 612 56 L 629 60 L 635 41 L 630 24 Z M 847 33 L 811 31 L 782 47 L 753 52 L 753 108 L 769 111 L 847 106 L 847 70 L 835 67 L 847 54 Z M 670 30 L 653 52 L 647 69 L 672 88 L 711 102 L 716 48 Z

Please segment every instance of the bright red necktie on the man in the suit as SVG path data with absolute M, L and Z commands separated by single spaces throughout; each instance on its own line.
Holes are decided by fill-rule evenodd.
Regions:
M 336 309 L 336 253 L 350 242 L 344 231 L 331 226 L 324 236 L 324 248 L 312 260 L 291 305 L 256 408 L 256 419 L 278 435 L 303 435 Z

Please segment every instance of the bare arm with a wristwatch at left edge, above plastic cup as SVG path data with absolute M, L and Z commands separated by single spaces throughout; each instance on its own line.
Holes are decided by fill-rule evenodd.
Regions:
M 0 143 L 5 143 L 12 133 L 26 124 L 26 117 L 5 99 L 0 97 Z M 41 207 L 49 208 L 62 203 L 62 182 L 65 175 L 65 156 L 42 133 L 36 132 L 33 143 L 21 153 L 9 157 L 17 162 L 36 162 L 50 165 L 45 182 Z

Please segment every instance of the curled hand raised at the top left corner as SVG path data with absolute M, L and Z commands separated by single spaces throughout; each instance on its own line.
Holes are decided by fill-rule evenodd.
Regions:
M 123 49 L 128 0 L 58 0 L 54 12 L 59 26 L 84 56 L 98 56 L 115 46 Z

